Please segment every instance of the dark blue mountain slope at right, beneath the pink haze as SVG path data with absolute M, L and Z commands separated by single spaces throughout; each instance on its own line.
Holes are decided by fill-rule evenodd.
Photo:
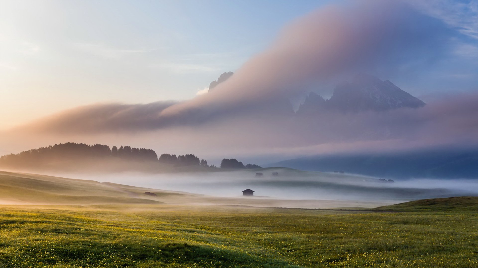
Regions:
M 478 178 L 478 148 L 404 153 L 318 155 L 266 166 L 345 171 L 384 178 Z

